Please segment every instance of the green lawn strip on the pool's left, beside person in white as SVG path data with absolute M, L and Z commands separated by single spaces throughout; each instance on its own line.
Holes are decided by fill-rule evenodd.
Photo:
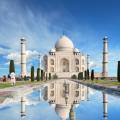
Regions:
M 16 82 L 15 86 L 20 86 L 20 85 L 35 85 L 35 84 L 42 83 L 42 82 L 45 82 L 45 81 L 34 81 L 34 82 L 31 82 L 31 81 L 19 81 L 19 82 Z M 8 87 L 13 87 L 13 85 L 11 85 L 10 82 L 0 83 L 0 89 L 8 88 Z

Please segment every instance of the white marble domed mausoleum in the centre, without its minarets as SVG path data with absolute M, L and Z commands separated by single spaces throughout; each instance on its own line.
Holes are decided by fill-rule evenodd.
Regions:
M 58 78 L 71 78 L 86 70 L 86 57 L 75 48 L 73 42 L 63 35 L 55 44 L 55 48 L 44 56 L 45 70 Z

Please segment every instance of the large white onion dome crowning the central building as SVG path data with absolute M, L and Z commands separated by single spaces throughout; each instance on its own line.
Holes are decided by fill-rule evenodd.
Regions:
M 66 51 L 73 50 L 74 45 L 72 41 L 65 35 L 63 35 L 55 44 L 57 51 Z

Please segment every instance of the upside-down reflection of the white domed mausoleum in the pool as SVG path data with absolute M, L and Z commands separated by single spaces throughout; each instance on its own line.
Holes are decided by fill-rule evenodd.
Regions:
M 78 83 L 61 80 L 50 83 L 45 92 L 45 100 L 51 106 L 55 107 L 56 113 L 62 120 L 70 117 L 75 119 L 74 107 L 77 107 L 80 101 L 87 99 L 87 87 Z

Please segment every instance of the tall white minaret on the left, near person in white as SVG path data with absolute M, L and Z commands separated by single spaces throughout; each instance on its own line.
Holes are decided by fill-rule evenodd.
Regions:
M 21 77 L 26 76 L 26 40 L 21 39 Z

